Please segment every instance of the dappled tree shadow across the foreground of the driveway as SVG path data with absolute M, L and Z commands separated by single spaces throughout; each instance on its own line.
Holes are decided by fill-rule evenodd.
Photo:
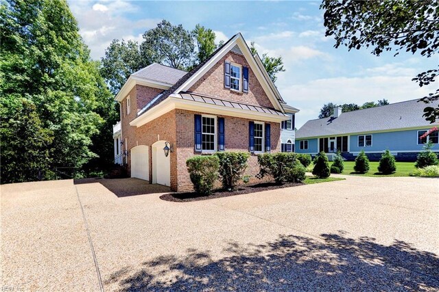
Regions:
M 160 256 L 104 284 L 121 291 L 438 291 L 439 258 L 403 241 L 390 246 L 343 233 L 322 241 L 279 235 L 263 245 L 229 243 L 225 258 L 188 250 Z

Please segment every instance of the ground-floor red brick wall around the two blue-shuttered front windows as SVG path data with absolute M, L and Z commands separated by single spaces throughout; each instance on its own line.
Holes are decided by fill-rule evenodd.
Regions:
M 194 114 L 203 114 L 195 111 L 176 109 L 176 149 L 177 149 L 177 181 L 178 191 L 192 189 L 191 179 L 186 168 L 186 160 L 193 155 L 200 153 L 194 152 Z M 226 151 L 248 151 L 248 122 L 244 118 L 224 117 Z M 279 123 L 271 123 L 271 147 L 272 152 L 281 150 L 280 144 L 281 126 Z M 259 173 L 257 155 L 250 156 L 246 174 L 254 176 Z

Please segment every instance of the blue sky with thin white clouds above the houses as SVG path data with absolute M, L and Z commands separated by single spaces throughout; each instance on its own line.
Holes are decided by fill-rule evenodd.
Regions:
M 325 103 L 357 103 L 386 98 L 390 103 L 420 98 L 438 88 L 419 88 L 411 79 L 433 68 L 437 57 L 334 49 L 324 37 L 320 1 L 78 1 L 69 0 L 80 34 L 99 59 L 113 39 L 143 40 L 145 30 L 162 19 L 193 29 L 213 29 L 217 40 L 237 32 L 256 43 L 260 55 L 281 55 L 285 72 L 276 86 L 297 107 L 296 127 L 318 117 Z

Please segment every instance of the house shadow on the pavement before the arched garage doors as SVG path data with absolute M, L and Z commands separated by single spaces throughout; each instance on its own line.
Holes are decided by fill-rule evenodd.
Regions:
M 150 184 L 139 178 L 80 178 L 73 180 L 73 183 L 75 185 L 100 183 L 119 198 L 145 194 L 169 193 L 171 191 L 171 189 L 165 185 Z

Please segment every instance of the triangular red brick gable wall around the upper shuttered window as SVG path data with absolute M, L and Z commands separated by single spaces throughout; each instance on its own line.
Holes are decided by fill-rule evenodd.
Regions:
M 224 88 L 224 61 L 226 59 L 230 62 L 248 67 L 248 93 L 235 92 L 234 90 Z M 222 59 L 211 68 L 211 70 L 206 72 L 203 77 L 189 88 L 189 92 L 206 94 L 208 96 L 222 98 L 226 101 L 260 105 L 261 107 L 274 107 L 254 75 L 254 72 L 248 65 L 246 58 L 232 52 L 229 52 L 222 57 Z

